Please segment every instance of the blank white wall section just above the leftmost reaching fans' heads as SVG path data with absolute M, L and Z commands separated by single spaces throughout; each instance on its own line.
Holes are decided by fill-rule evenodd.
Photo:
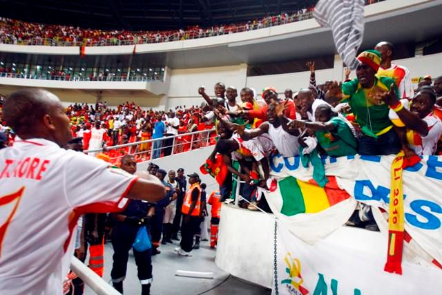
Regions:
M 188 68 L 171 70 L 171 82 L 167 93 L 167 108 L 199 105 L 204 99 L 198 95 L 198 88 L 204 86 L 209 96 L 214 95 L 213 86 L 223 82 L 226 86 L 240 89 L 246 85 L 247 65 L 219 66 L 213 68 Z

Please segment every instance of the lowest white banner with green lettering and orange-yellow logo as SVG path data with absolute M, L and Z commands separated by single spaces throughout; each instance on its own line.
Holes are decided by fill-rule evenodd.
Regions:
M 403 275 L 385 264 L 386 236 L 352 227 L 309 245 L 278 222 L 273 295 L 440 294 L 441 271 L 403 262 Z

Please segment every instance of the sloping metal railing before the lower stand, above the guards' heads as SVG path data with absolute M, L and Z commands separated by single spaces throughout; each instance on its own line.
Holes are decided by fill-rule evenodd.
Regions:
M 117 163 L 124 155 L 134 155 L 137 162 L 143 162 L 214 145 L 217 136 L 215 129 L 209 129 L 106 146 L 103 149 L 90 149 L 84 153 L 106 153 L 113 164 Z

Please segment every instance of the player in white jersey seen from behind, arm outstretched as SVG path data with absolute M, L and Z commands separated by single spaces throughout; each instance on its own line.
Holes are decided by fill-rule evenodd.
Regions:
M 12 93 L 3 117 L 19 139 L 0 151 L 1 294 L 59 295 L 77 218 L 124 209 L 125 196 L 155 202 L 164 198 L 164 186 L 61 149 L 72 139 L 69 119 L 48 91 Z

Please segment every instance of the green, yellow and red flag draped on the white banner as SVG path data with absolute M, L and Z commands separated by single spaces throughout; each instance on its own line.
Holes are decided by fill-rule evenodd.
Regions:
M 334 176 L 327 176 L 329 182 L 321 188 L 314 180 L 300 181 L 287 177 L 278 182 L 282 207 L 280 213 L 294 216 L 298 213 L 318 213 L 347 200 L 349 194 L 338 187 Z

